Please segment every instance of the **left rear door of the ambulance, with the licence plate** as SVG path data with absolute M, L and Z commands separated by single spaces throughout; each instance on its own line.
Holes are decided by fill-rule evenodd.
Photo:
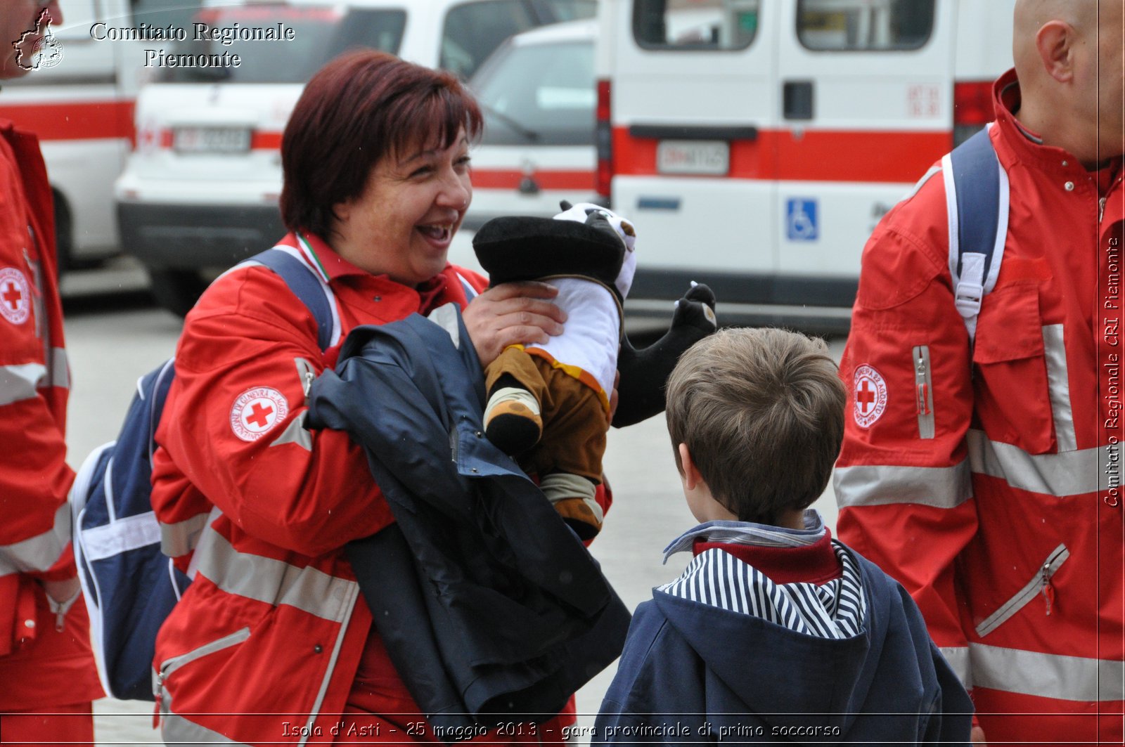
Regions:
M 605 1 L 602 12 L 614 14 L 612 205 L 637 222 L 639 240 L 631 297 L 675 298 L 690 279 L 772 274 L 775 164 L 764 134 L 780 99 L 771 2 Z

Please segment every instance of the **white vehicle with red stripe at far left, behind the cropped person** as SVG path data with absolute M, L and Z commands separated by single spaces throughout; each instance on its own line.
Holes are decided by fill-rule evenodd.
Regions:
M 61 267 L 118 251 L 112 183 L 133 142 L 144 44 L 120 38 L 116 29 L 178 24 L 198 4 L 63 0 L 63 22 L 46 29 L 57 54 L 34 58 L 27 75 L 3 82 L 0 117 L 39 137 L 55 197 Z

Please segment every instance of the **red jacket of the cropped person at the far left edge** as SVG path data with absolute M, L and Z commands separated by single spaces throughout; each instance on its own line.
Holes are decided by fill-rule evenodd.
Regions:
M 75 575 L 54 246 L 38 140 L 0 120 L 0 711 L 101 696 L 84 605 L 57 631 L 37 583 Z

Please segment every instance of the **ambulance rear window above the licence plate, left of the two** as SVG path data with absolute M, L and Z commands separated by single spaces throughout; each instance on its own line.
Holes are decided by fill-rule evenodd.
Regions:
M 759 0 L 636 0 L 633 37 L 645 50 L 745 50 Z

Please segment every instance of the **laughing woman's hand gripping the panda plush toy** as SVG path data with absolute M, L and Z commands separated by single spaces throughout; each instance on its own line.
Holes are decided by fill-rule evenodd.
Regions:
M 480 364 L 488 366 L 508 345 L 561 334 L 566 312 L 549 300 L 558 292 L 546 282 L 504 282 L 470 300 L 461 318 Z

